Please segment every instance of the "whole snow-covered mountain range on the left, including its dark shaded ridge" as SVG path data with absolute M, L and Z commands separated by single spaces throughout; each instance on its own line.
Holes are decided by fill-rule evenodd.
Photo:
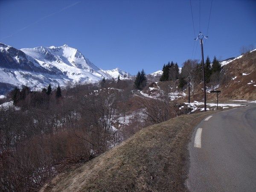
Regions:
M 109 72 L 109 73 L 108 73 Z M 14 86 L 26 85 L 32 90 L 65 86 L 74 83 L 97 82 L 129 75 L 123 70 L 101 70 L 79 50 L 63 45 L 61 47 L 36 47 L 15 49 L 0 43 L 0 92 L 5 93 Z

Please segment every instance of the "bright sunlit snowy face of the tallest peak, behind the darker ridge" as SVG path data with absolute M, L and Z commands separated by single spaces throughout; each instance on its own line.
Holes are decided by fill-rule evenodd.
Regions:
M 20 50 L 35 58 L 41 66 L 48 64 L 47 67 L 56 67 L 73 82 L 95 82 L 103 77 L 108 78 L 108 75 L 102 73 L 92 62 L 84 58 L 81 52 L 67 45 Z

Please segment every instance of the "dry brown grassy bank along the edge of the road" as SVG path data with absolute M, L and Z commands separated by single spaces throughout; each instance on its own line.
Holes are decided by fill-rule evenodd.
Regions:
M 205 116 L 178 116 L 139 131 L 110 151 L 55 177 L 41 191 L 184 191 L 193 128 Z

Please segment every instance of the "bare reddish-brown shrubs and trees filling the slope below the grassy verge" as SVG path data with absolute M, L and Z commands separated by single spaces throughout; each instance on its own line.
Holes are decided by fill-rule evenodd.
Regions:
M 0 108 L 1 191 L 36 191 L 146 125 L 177 115 L 169 100 L 134 97 L 133 81 L 100 86 L 68 86 L 61 97 L 28 87 L 11 93 L 20 110 Z

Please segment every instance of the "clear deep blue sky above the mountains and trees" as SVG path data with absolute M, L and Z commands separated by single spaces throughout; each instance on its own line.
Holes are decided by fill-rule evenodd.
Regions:
M 192 0 L 195 33 L 207 33 L 211 0 Z M 256 1 L 213 0 L 204 55 L 225 59 L 256 48 Z M 15 48 L 79 49 L 97 67 L 131 74 L 201 58 L 189 0 L 1 0 L 0 42 Z

